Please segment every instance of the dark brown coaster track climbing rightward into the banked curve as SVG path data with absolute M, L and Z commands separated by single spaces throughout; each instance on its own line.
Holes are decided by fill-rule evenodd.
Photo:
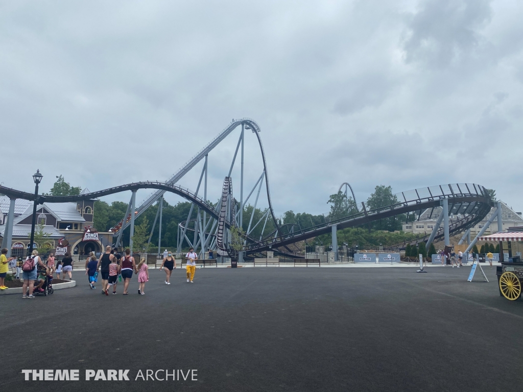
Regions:
M 437 193 L 435 192 L 436 190 L 438 190 Z M 426 193 L 427 191 L 428 194 L 426 196 L 423 195 L 423 192 Z M 407 200 L 405 193 L 411 193 L 412 195 L 415 194 L 415 197 L 408 198 Z M 261 241 L 247 245 L 246 250 L 263 251 L 297 243 L 322 234 L 331 233 L 332 226 L 334 225 L 337 226 L 337 229 L 343 229 L 364 225 L 384 218 L 406 214 L 408 212 L 419 211 L 419 215 L 421 215 L 421 213 L 426 209 L 434 209 L 435 207 L 440 206 L 441 200 L 444 199 L 447 199 L 450 205 L 449 212 L 464 215 L 464 218 L 454 222 L 449 227 L 449 232 L 456 232 L 480 222 L 493 206 L 493 202 L 485 188 L 476 184 L 461 184 L 461 187 L 460 184 L 449 184 L 438 187 L 420 188 L 409 192 L 402 192 L 396 195 L 396 200 L 399 200 L 399 195 L 403 196 L 404 201 L 397 201 L 391 205 L 373 210 L 366 210 L 365 204 L 362 203 L 362 212 L 347 217 L 325 222 L 324 224 L 312 226 L 306 229 L 297 229 L 294 226 L 291 232 L 287 234 L 277 235 L 276 232 L 272 232 L 265 236 Z M 442 235 L 443 232 L 441 229 L 437 233 L 436 238 L 441 237 Z M 428 235 L 425 237 L 428 238 Z M 420 240 L 421 239 L 418 238 L 414 241 Z

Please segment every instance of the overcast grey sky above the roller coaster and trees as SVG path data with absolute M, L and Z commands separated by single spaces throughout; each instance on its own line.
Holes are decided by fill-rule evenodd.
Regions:
M 344 181 L 358 201 L 476 182 L 521 211 L 521 20 L 508 0 L 2 1 L 0 181 L 165 180 L 250 117 L 277 214 L 327 212 Z M 211 199 L 238 135 L 209 156 Z M 250 188 L 254 135 L 245 148 Z

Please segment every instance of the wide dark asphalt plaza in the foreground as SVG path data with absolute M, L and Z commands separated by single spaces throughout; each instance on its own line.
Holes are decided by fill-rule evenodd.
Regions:
M 2 391 L 506 391 L 523 385 L 523 301 L 469 268 L 151 270 L 145 295 L 86 276 L 48 297 L 0 297 Z M 24 381 L 22 369 L 81 381 Z M 85 381 L 129 369 L 131 381 Z M 142 381 L 142 370 L 197 381 Z M 163 373 L 158 374 L 160 378 Z M 73 388 L 73 389 L 72 389 Z

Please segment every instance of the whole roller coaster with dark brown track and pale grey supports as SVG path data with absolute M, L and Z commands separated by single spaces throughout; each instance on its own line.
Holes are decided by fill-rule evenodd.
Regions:
M 229 172 L 225 176 L 222 192 L 219 198 L 217 198 L 219 202 L 214 204 L 210 202 L 208 198 L 207 174 L 209 153 L 211 153 L 212 150 L 221 142 L 226 140 L 226 137 L 230 135 L 236 128 L 238 128 L 238 126 L 241 126 L 240 137 L 236 144 L 236 149 L 232 158 Z M 252 190 L 248 193 L 246 198 L 244 198 L 245 130 L 252 130 L 252 133 L 256 136 L 256 142 L 258 143 L 261 155 L 261 175 L 254 183 Z M 223 252 L 229 253 L 229 255 L 233 257 L 234 252 L 232 251 L 231 247 L 231 236 L 229 235 L 229 231 L 231 226 L 243 227 L 244 207 L 247 205 L 247 201 L 251 198 L 255 191 L 256 197 L 251 216 L 249 217 L 246 232 L 243 233 L 244 250 L 247 253 L 255 253 L 266 250 L 280 250 L 286 252 L 290 251 L 290 245 L 298 243 L 299 241 L 304 241 L 328 233 L 333 233 L 333 236 L 335 236 L 336 230 L 346 227 L 365 227 L 371 222 L 390 217 L 395 219 L 396 216 L 407 213 L 416 213 L 418 214 L 419 218 L 419 216 L 426 210 L 430 210 L 431 216 L 434 210 L 439 206 L 444 206 L 444 211 L 447 216 L 448 214 L 461 216 L 460 219 L 453 221 L 451 224 L 448 224 L 447 226 L 444 225 L 444 227 L 439 227 L 443 215 L 440 214 L 440 218 L 436 223 L 432 233 L 416 238 L 412 241 L 413 243 L 419 243 L 420 241 L 427 240 L 430 242 L 436 238 L 448 235 L 449 233 L 462 232 L 463 230 L 467 230 L 477 222 L 480 222 L 493 206 L 490 195 L 483 186 L 473 183 L 454 183 L 397 193 L 393 198 L 391 198 L 389 205 L 376 209 L 368 209 L 365 205 L 365 202 L 361 202 L 360 206 L 356 204 L 356 198 L 352 187 L 348 183 L 344 182 L 342 186 L 339 187 L 338 191 L 342 191 L 342 188 L 345 186 L 345 195 L 347 198 L 349 198 L 350 196 L 348 194 L 348 189 L 350 189 L 354 203 L 356 204 L 355 213 L 335 220 L 325 220 L 325 222 L 322 224 L 305 228 L 301 227 L 300 223 L 281 225 L 276 218 L 274 209 L 272 208 L 267 162 L 264 148 L 261 143 L 260 131 L 261 130 L 259 125 L 252 119 L 233 119 L 224 130 L 215 136 L 211 142 L 204 146 L 195 156 L 189 159 L 189 161 L 184 166 L 182 166 L 165 182 L 133 182 L 97 192 L 84 193 L 74 196 L 38 195 L 37 202 L 39 204 L 44 202 L 78 202 L 82 200 L 98 199 L 100 197 L 119 192 L 131 191 L 131 200 L 128 204 L 126 214 L 122 217 L 122 220 L 111 229 L 113 236 L 116 238 L 115 244 L 118 246 L 121 244 L 123 230 L 127 227 L 130 227 L 132 237 L 135 218 L 140 216 L 140 214 L 142 214 L 156 202 L 159 202 L 159 205 L 153 224 L 153 230 L 158 219 L 158 215 L 160 215 L 161 230 L 164 194 L 166 192 L 174 193 L 191 202 L 187 220 L 178 224 L 177 250 L 181 250 L 181 247 L 185 241 L 190 246 L 193 246 L 195 250 L 200 249 L 201 252 L 206 252 L 207 250 L 220 249 Z M 240 178 L 239 181 L 235 180 L 235 183 L 240 184 L 240 200 L 236 200 L 233 197 L 232 192 L 232 178 L 233 176 L 238 177 L 236 173 L 238 170 L 233 173 L 238 152 L 240 152 L 241 156 L 239 174 Z M 203 167 L 196 191 L 191 191 L 188 188 L 178 185 L 178 182 L 200 162 L 203 162 Z M 203 192 L 200 192 L 202 182 Z M 264 184 L 266 190 L 266 192 L 264 192 L 266 194 L 266 208 L 263 212 L 263 215 L 257 218 L 257 222 L 253 222 L 258 202 L 261 201 L 259 198 L 260 191 Z M 136 207 L 135 195 L 139 189 L 153 189 L 155 192 L 153 192 L 148 198 L 142 201 L 138 207 Z M 35 200 L 35 195 L 32 193 L 22 192 L 4 186 L 0 186 L 0 193 L 7 195 L 10 199 L 25 199 L 31 201 Z M 192 215 L 195 206 L 197 208 L 197 213 L 196 218 L 193 218 Z M 131 213 L 131 211 L 134 213 Z M 270 225 L 272 227 L 270 232 L 266 233 L 265 229 L 267 227 L 267 221 L 269 217 L 272 220 L 272 225 Z M 13 218 L 8 218 L 8 222 L 13 224 Z M 263 226 L 261 226 L 262 222 Z M 260 236 L 255 238 L 252 236 L 252 233 L 256 227 L 263 228 L 261 229 Z M 190 239 L 188 236 L 191 234 L 192 239 Z M 159 237 L 161 240 L 161 232 L 159 233 Z M 160 249 L 160 244 L 158 244 L 158 249 Z

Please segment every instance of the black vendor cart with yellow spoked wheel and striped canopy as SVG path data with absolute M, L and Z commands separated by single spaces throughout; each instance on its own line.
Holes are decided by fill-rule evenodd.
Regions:
M 517 229 L 523 229 L 518 227 Z M 499 242 L 499 259 L 501 266 L 496 267 L 499 295 L 509 301 L 521 298 L 521 281 L 523 280 L 523 263 L 521 262 L 520 243 L 523 242 L 523 231 L 508 231 L 479 237 L 479 241 Z M 507 243 L 505 253 L 504 243 Z M 513 251 L 516 255 L 513 256 Z M 508 257 L 507 257 L 508 256 Z

